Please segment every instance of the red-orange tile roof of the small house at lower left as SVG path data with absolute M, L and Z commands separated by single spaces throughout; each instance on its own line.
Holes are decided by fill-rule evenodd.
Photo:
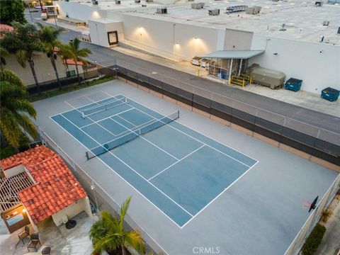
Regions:
M 28 169 L 35 181 L 18 193 L 35 224 L 87 196 L 62 159 L 45 146 L 0 161 L 4 171 L 19 164 Z

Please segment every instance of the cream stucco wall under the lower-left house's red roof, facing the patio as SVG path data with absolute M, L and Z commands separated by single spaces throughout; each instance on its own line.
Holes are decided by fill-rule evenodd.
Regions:
M 91 208 L 89 203 L 89 198 L 86 196 L 85 198 L 79 199 L 77 202 L 73 203 L 72 205 L 63 208 L 59 212 L 52 215 L 52 220 L 55 222 L 55 225 L 59 226 L 62 225 L 63 217 L 67 216 L 70 220 L 72 217 L 78 215 L 80 212 L 85 211 L 89 217 L 91 217 Z

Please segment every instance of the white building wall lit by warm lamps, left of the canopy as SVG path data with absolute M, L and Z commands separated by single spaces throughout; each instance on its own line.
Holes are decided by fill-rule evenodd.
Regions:
M 117 18 L 117 14 L 114 14 L 112 18 L 114 17 Z M 121 14 L 118 19 L 123 21 L 126 40 L 136 42 L 141 47 L 153 49 L 155 53 L 165 52 L 183 60 L 190 60 L 196 55 L 223 49 L 224 30 L 171 23 L 128 14 Z

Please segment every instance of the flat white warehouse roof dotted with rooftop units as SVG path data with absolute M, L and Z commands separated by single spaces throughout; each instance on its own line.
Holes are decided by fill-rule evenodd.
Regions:
M 261 12 L 256 15 L 244 11 L 226 13 L 227 7 L 239 5 L 261 6 Z M 220 9 L 220 15 L 210 16 L 208 10 L 212 8 Z M 324 36 L 324 43 L 340 45 L 340 36 L 337 34 L 340 26 L 339 4 L 324 3 L 317 7 L 314 1 L 304 0 L 210 0 L 200 9 L 191 8 L 191 4 L 182 4 L 168 6 L 166 14 L 155 11 L 156 8 L 139 8 L 125 12 L 125 15 L 208 28 L 245 30 L 268 37 L 308 42 L 319 42 Z M 329 25 L 324 26 L 324 21 L 329 21 Z

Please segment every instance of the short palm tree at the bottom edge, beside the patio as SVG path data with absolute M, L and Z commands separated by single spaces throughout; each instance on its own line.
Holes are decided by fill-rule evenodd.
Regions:
M 103 251 L 117 254 L 121 249 L 126 254 L 125 247 L 132 247 L 141 254 L 145 254 L 145 243 L 137 230 L 125 231 L 124 217 L 128 211 L 131 197 L 120 208 L 120 216 L 113 217 L 109 212 L 102 212 L 101 219 L 92 225 L 90 238 L 94 245 L 92 254 L 101 254 Z

